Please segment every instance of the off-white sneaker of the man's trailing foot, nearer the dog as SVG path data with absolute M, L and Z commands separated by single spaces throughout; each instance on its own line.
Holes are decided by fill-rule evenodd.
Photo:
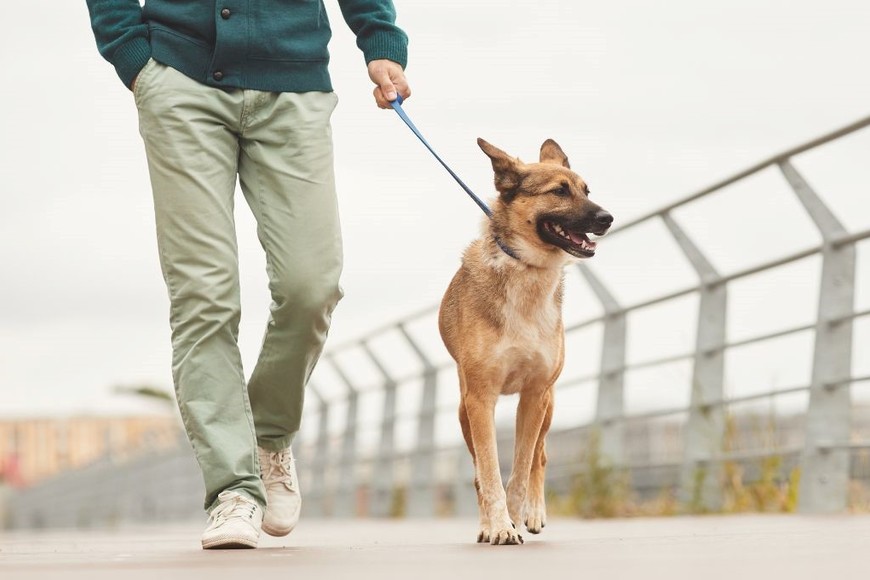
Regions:
M 266 451 L 257 448 L 260 459 L 260 477 L 266 487 L 266 515 L 263 531 L 270 536 L 286 536 L 299 522 L 302 511 L 302 493 L 296 477 L 293 451 L 288 447 L 281 451 Z

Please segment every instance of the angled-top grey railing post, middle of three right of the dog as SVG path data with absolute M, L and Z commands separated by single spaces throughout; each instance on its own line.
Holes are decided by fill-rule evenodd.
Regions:
M 683 437 L 680 502 L 690 511 L 722 507 L 722 448 L 725 443 L 724 372 L 728 286 L 713 264 L 668 213 L 662 214 L 677 245 L 701 282 L 692 394 Z

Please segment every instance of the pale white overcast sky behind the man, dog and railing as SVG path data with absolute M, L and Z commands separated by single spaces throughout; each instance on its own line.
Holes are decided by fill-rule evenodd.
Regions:
M 333 121 L 346 247 L 337 344 L 437 301 L 480 215 L 398 118 L 375 108 L 362 57 L 337 4 L 326 4 L 341 98 Z M 491 173 L 478 136 L 525 159 L 555 138 L 618 223 L 870 113 L 863 0 L 397 0 L 397 8 L 411 37 L 414 95 L 406 109 L 484 197 Z M 132 97 L 96 51 L 84 0 L 8 3 L 4 17 L 0 416 L 139 410 L 141 402 L 111 396 L 111 388 L 169 388 L 171 378 L 168 304 Z M 868 137 L 806 160 L 818 171 L 817 189 L 855 229 L 870 224 Z M 759 192 L 768 192 L 768 179 L 781 182 L 759 178 Z M 723 270 L 817 240 L 787 194 L 760 202 L 753 191 L 677 215 Z M 250 371 L 268 295 L 253 220 L 241 197 L 237 206 L 241 348 Z M 595 266 L 627 303 L 691 281 L 661 232 L 614 238 L 612 251 L 607 242 Z M 644 251 L 653 255 L 641 259 Z M 859 273 L 865 308 L 868 253 Z M 796 265 L 776 274 L 778 283 L 817 276 L 817 266 Z M 814 316 L 811 286 L 794 291 L 806 312 L 798 322 Z M 750 335 L 771 311 L 770 298 L 751 283 L 733 295 L 730 335 Z M 567 302 L 578 319 L 598 310 L 582 290 Z M 662 354 L 662 344 L 691 348 L 694 308 L 690 300 L 685 314 L 649 313 L 648 322 L 673 337 L 640 334 L 630 357 Z M 792 303 L 787 310 L 795 311 Z M 870 330 L 860 332 L 870 342 Z M 593 368 L 591 350 L 566 372 Z M 788 383 L 783 372 L 764 380 Z M 631 393 L 648 382 L 629 377 L 630 405 L 644 399 Z

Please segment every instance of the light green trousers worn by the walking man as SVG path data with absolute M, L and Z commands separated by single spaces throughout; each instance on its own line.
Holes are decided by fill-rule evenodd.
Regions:
M 265 505 L 256 446 L 299 429 L 305 384 L 341 298 L 333 93 L 222 90 L 150 61 L 134 98 L 169 291 L 172 373 L 205 480 Z M 233 198 L 239 178 L 266 252 L 272 305 L 245 384 Z

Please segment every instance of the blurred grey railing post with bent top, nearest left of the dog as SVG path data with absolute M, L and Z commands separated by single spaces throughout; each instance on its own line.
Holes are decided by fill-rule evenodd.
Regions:
M 423 365 L 423 397 L 417 425 L 417 448 L 411 457 L 411 478 L 407 490 L 407 515 L 432 517 L 437 506 L 435 483 L 435 403 L 438 394 L 438 369 L 401 324 L 399 332 Z

